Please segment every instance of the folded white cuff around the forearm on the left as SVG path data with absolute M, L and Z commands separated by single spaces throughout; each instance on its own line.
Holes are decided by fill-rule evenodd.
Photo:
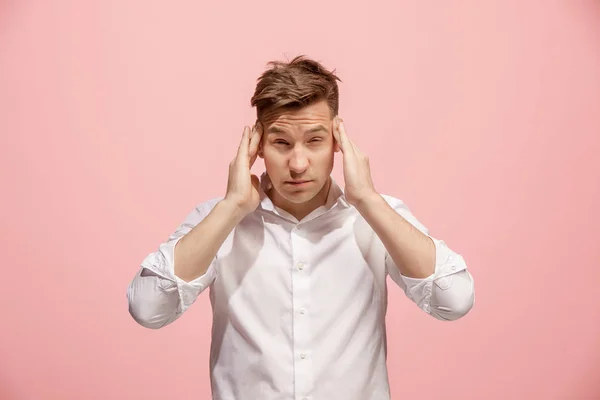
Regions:
M 203 292 L 216 278 L 215 263 L 217 257 L 213 259 L 207 271 L 198 278 L 186 282 L 175 275 L 175 246 L 183 236 L 162 243 L 158 251 L 149 254 L 141 266 L 152 271 L 160 276 L 161 289 L 168 290 L 177 286 L 179 293 L 179 306 L 177 313 L 183 313 L 187 310 L 198 298 L 198 295 Z

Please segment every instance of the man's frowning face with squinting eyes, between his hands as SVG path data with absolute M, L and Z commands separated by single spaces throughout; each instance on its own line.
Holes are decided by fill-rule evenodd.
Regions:
M 291 214 L 314 209 L 326 199 L 334 153 L 339 151 L 332 119 L 325 100 L 262 118 L 259 156 L 273 184 L 274 203 Z

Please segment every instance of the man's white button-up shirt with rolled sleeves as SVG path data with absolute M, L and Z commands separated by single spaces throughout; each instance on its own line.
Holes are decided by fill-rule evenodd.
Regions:
M 473 279 L 462 256 L 432 238 L 435 273 L 401 275 L 331 179 L 326 204 L 298 221 L 266 196 L 263 174 L 256 211 L 231 232 L 207 272 L 186 283 L 174 274 L 175 244 L 222 198 L 199 204 L 128 287 L 131 315 L 154 329 L 209 289 L 214 400 L 388 400 L 386 277 L 435 318 L 454 320 L 472 307 Z M 401 200 L 382 197 L 428 235 Z

